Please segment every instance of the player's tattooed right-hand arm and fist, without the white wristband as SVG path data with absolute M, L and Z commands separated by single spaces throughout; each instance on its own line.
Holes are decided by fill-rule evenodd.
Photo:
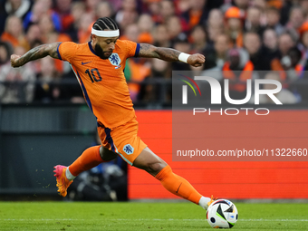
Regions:
M 177 62 L 179 54 L 180 52 L 175 49 L 156 47 L 147 43 L 140 43 L 139 57 L 158 58 L 168 62 Z M 205 61 L 205 56 L 200 53 L 195 53 L 188 57 L 188 64 L 195 67 L 201 66 L 202 63 L 205 63 Z

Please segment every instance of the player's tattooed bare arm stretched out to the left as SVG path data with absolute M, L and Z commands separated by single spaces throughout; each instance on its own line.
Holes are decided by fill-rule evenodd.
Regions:
M 11 65 L 13 67 L 23 66 L 25 63 L 41 59 L 47 55 L 50 55 L 54 59 L 59 59 L 57 49 L 60 43 L 49 43 L 34 47 L 29 52 L 24 53 L 24 55 L 11 55 Z

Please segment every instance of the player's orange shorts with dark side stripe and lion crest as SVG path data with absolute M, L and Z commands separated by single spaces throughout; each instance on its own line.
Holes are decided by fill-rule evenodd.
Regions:
M 147 145 L 137 135 L 138 121 L 136 117 L 114 129 L 98 124 L 97 130 L 101 145 L 120 155 L 130 165 Z

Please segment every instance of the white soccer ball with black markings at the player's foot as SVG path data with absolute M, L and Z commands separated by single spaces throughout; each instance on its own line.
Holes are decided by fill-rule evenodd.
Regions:
M 212 227 L 231 228 L 237 218 L 237 208 L 230 200 L 218 199 L 207 208 L 207 222 Z

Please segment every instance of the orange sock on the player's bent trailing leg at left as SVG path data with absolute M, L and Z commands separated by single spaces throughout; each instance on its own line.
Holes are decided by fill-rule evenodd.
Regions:
M 98 166 L 102 162 L 105 162 L 101 159 L 99 146 L 93 146 L 89 149 L 85 149 L 78 159 L 76 159 L 72 165 L 70 165 L 69 170 L 73 176 L 77 177 L 82 171 L 89 170 Z

